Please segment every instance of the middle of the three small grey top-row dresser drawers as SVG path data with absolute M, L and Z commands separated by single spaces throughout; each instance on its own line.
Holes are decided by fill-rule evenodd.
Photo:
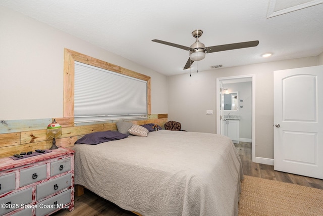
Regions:
M 46 177 L 47 177 L 46 164 L 21 170 L 20 171 L 20 187 L 23 187 L 25 185 L 29 185 L 31 183 L 46 179 Z

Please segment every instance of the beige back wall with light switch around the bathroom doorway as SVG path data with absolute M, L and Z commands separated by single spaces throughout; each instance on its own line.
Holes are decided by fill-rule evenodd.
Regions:
M 216 80 L 255 74 L 255 145 L 256 157 L 274 158 L 274 83 L 273 71 L 315 66 L 318 57 L 252 64 L 200 71 L 168 77 L 168 119 L 182 123 L 193 132 L 216 133 Z M 213 115 L 206 115 L 206 110 Z

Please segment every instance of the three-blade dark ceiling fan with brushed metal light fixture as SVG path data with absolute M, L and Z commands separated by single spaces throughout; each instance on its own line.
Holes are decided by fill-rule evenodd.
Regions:
M 253 40 L 253 41 L 247 41 L 247 42 L 239 42 L 236 44 L 218 45 L 218 46 L 205 48 L 204 44 L 198 40 L 198 38 L 200 36 L 202 36 L 202 34 L 203 34 L 203 31 L 199 30 L 199 29 L 194 30 L 192 32 L 192 35 L 193 35 L 193 37 L 196 38 L 196 41 L 190 47 L 185 47 L 182 45 L 173 44 L 171 42 L 157 40 L 157 39 L 153 39 L 152 41 L 190 51 L 190 57 L 184 66 L 184 70 L 190 68 L 194 61 L 200 61 L 200 60 L 204 59 L 205 52 L 206 53 L 214 53 L 214 52 L 220 52 L 220 51 L 226 51 L 226 50 L 235 50 L 235 49 L 241 49 L 241 48 L 256 47 L 259 44 L 259 40 Z

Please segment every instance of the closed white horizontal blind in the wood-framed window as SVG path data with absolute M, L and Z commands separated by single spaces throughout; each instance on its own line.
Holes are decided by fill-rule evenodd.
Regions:
M 147 81 L 75 61 L 75 122 L 147 117 Z

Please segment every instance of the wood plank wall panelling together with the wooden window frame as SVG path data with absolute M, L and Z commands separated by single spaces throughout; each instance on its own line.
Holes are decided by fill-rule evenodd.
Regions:
M 55 118 L 62 125 L 62 136 L 56 139 L 56 145 L 72 148 L 77 139 L 85 134 L 101 131 L 116 131 L 116 121 L 74 125 L 74 63 L 82 62 L 95 67 L 111 70 L 127 76 L 147 81 L 147 120 L 134 120 L 134 124 L 155 123 L 164 128 L 167 114 L 151 114 L 150 76 L 114 65 L 93 57 L 64 49 L 64 96 L 63 118 Z M 47 125 L 52 119 L 0 120 L 0 158 L 20 154 L 36 149 L 49 149 L 52 139 L 47 140 Z

